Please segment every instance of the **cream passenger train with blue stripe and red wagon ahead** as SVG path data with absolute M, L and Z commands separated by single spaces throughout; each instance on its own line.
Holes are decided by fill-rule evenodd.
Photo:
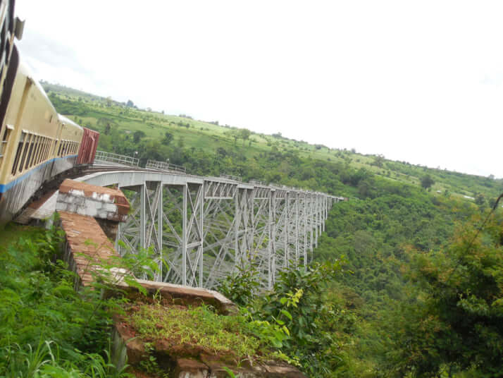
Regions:
M 0 225 L 45 183 L 94 162 L 99 133 L 58 114 L 20 59 L 24 23 L 14 0 L 0 0 Z

